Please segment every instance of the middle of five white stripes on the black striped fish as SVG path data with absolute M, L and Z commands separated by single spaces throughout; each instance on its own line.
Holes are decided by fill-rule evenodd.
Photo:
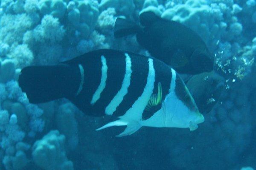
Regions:
M 127 53 L 125 53 L 125 65 L 125 77 L 123 79 L 121 89 L 117 92 L 109 105 L 106 107 L 105 113 L 107 115 L 112 115 L 113 112 L 116 111 L 116 108 L 120 105 L 120 103 L 124 99 L 124 96 L 127 94 L 128 87 L 131 83 L 131 58 Z

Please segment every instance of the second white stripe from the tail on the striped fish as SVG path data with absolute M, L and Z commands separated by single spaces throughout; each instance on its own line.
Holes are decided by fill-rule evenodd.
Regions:
M 100 94 L 104 90 L 106 86 L 106 81 L 107 81 L 107 71 L 108 71 L 108 66 L 107 66 L 107 60 L 104 56 L 101 56 L 101 62 L 102 62 L 102 76 L 100 79 L 100 84 L 95 93 L 93 94 L 93 98 L 91 100 L 91 104 L 93 105 L 97 100 L 100 98 Z

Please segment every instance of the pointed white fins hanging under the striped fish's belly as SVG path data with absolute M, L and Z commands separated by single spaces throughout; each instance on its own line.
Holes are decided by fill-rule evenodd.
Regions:
M 122 133 L 120 133 L 119 135 L 116 135 L 116 137 L 131 135 L 131 134 L 135 133 L 137 130 L 139 130 L 140 127 L 142 127 L 142 125 L 140 125 L 140 123 L 137 121 L 126 121 L 123 119 L 119 119 L 114 122 L 109 122 L 106 125 L 98 128 L 96 130 L 102 130 L 102 129 L 112 127 L 112 126 L 127 126 L 125 128 L 125 130 Z

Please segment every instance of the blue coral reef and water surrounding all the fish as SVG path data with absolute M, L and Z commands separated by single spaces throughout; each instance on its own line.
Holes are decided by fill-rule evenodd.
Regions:
M 20 69 L 100 48 L 149 55 L 135 36 L 114 39 L 116 17 L 143 11 L 180 22 L 215 54 L 225 79 L 195 131 L 122 127 L 59 99 L 30 104 Z M 253 170 L 256 168 L 256 0 L 0 0 L 0 170 Z M 93 73 L 91 73 L 93 74 Z

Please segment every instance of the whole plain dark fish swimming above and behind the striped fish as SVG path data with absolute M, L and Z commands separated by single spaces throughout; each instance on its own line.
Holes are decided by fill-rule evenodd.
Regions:
M 114 29 L 116 38 L 136 34 L 139 44 L 151 56 L 171 65 L 178 73 L 199 74 L 213 69 L 213 56 L 195 31 L 154 12 L 140 14 L 140 26 L 117 18 Z

